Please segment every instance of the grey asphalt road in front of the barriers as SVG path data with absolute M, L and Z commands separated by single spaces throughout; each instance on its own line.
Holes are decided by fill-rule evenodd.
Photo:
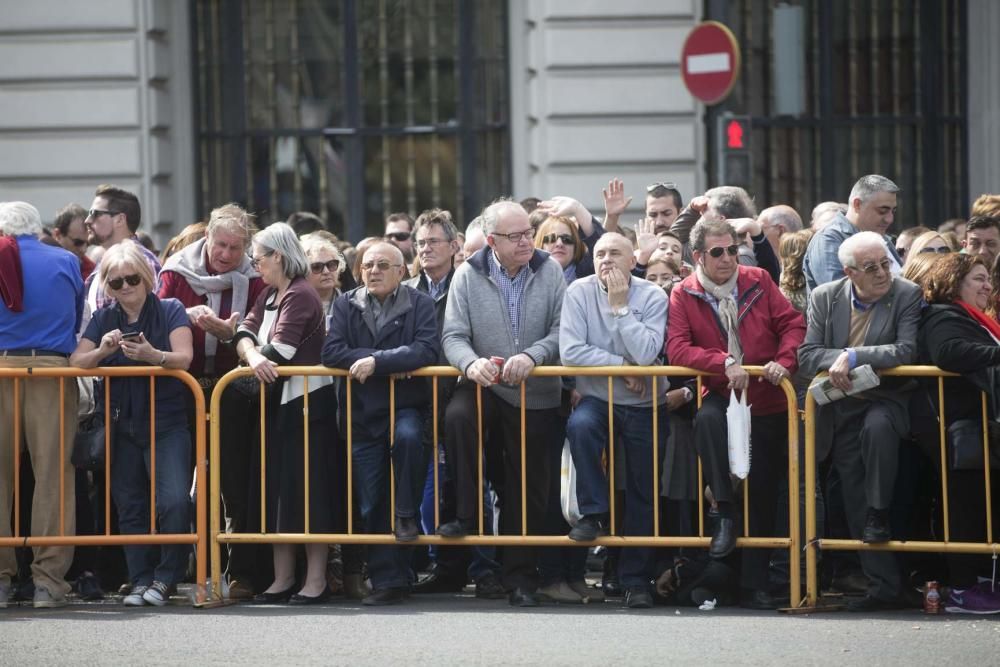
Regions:
M 1000 664 L 1000 618 L 617 603 L 513 610 L 471 595 L 362 609 L 73 604 L 0 610 L 0 665 L 59 664 Z

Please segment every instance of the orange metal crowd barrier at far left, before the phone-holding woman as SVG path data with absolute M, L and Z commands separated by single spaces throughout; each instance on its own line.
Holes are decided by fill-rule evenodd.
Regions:
M 20 409 L 20 383 L 31 382 L 33 378 L 58 378 L 59 379 L 59 459 L 64 462 L 69 461 L 69 454 L 73 443 L 66 442 L 65 423 L 66 419 L 77 419 L 74 411 L 72 415 L 66 415 L 62 410 L 62 404 L 66 395 L 67 378 L 78 377 L 148 377 L 149 378 L 149 402 L 150 402 L 150 461 L 149 461 L 149 504 L 150 504 L 150 525 L 149 533 L 141 535 L 121 535 L 111 533 L 111 459 L 114 456 L 114 449 L 110 448 L 111 431 L 105 432 L 105 457 L 104 457 L 104 534 L 103 535 L 67 535 L 66 534 L 66 468 L 60 468 L 59 475 L 59 535 L 22 535 L 20 521 L 20 467 L 21 467 L 21 409 Z M 206 599 L 206 574 L 208 555 L 208 525 L 207 516 L 207 490 L 202 483 L 196 488 L 196 510 L 195 510 L 195 532 L 165 534 L 158 533 L 156 529 L 156 382 L 157 377 L 172 377 L 187 385 L 194 395 L 195 422 L 203 424 L 205 422 L 205 396 L 201 387 L 189 373 L 185 371 L 161 368 L 158 366 L 136 366 L 117 368 L 0 368 L 0 379 L 13 379 L 14 382 L 14 423 L 4 425 L 3 428 L 13 428 L 14 437 L 14 501 L 13 501 L 13 536 L 0 537 L 0 548 L 10 547 L 39 547 L 39 546 L 125 546 L 138 544 L 194 544 L 196 545 L 196 603 L 202 603 Z M 104 423 L 111 424 L 110 408 L 110 383 L 104 383 Z M 196 476 L 198 480 L 206 477 L 206 446 L 205 431 L 203 428 L 195 429 L 195 459 Z M 2 518 L 6 520 L 6 518 Z

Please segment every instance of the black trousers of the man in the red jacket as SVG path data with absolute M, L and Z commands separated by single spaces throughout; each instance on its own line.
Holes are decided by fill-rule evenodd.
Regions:
M 712 495 L 720 503 L 736 503 L 729 476 L 729 429 L 726 425 L 728 399 L 709 394 L 694 418 L 694 441 Z M 749 534 L 751 537 L 786 535 L 787 526 L 777 526 L 778 480 L 788 471 L 788 414 L 750 418 L 751 459 L 749 484 Z M 786 487 L 787 488 L 787 487 Z M 743 551 L 740 585 L 766 590 L 769 549 Z

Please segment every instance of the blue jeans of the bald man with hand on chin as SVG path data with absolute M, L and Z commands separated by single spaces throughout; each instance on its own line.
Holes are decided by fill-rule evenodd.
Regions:
M 659 502 L 660 472 L 653 470 L 653 409 L 628 405 L 614 407 L 615 436 L 625 449 L 624 535 L 653 534 L 653 503 Z M 667 444 L 667 409 L 661 404 L 657 416 L 659 461 Z M 576 466 L 576 499 L 580 513 L 605 514 L 609 511 L 608 478 L 601 454 L 608 448 L 608 402 L 592 396 L 581 400 L 566 424 L 573 464 Z M 620 462 L 616 462 L 619 463 Z M 655 566 L 653 549 L 626 547 L 619 560 L 622 585 L 648 586 Z

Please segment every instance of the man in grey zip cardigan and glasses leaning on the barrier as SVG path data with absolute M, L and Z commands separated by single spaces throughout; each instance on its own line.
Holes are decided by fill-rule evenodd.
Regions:
M 528 533 L 540 534 L 549 488 L 558 474 L 546 448 L 554 446 L 556 439 L 560 381 L 528 376 L 535 366 L 558 363 L 559 315 L 566 285 L 558 262 L 534 248 L 528 214 L 519 204 L 495 202 L 483 211 L 482 220 L 487 246 L 455 271 L 441 337 L 449 363 L 464 377 L 445 413 L 446 458 L 456 485 L 457 519 L 441 525 L 438 534 L 463 537 L 477 529 L 474 519 L 481 516 L 476 385 L 486 389 L 482 392 L 482 433 L 489 434 L 483 443 L 486 458 L 503 460 L 503 470 L 494 479 L 503 481 L 500 530 L 521 534 L 524 437 Z M 502 369 L 490 357 L 502 357 Z M 511 591 L 512 605 L 538 604 L 536 565 L 534 548 L 504 550 L 503 583 Z

